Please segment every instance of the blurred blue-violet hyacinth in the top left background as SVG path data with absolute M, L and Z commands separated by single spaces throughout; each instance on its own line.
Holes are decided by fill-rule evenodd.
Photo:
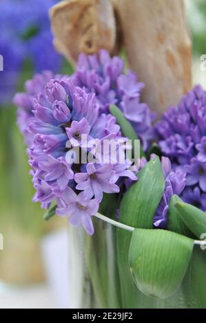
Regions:
M 58 71 L 62 58 L 52 45 L 48 10 L 56 0 L 1 0 L 0 104 L 11 100 L 17 88 L 23 63 L 30 60 L 34 71 Z

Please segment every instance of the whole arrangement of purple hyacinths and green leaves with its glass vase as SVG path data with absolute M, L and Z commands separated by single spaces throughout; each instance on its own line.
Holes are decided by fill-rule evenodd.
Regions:
M 78 233 L 87 306 L 205 308 L 206 91 L 157 120 L 144 87 L 105 49 L 25 82 L 14 103 L 33 201 Z

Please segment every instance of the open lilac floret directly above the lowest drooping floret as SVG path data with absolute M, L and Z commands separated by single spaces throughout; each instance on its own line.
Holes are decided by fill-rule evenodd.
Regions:
M 87 164 L 87 172 L 81 172 L 74 175 L 74 180 L 77 183 L 76 189 L 83 190 L 85 196 L 91 199 L 93 196 L 101 202 L 103 192 L 118 193 L 119 186 L 114 181 L 110 181 L 114 174 L 113 166 L 105 164 Z

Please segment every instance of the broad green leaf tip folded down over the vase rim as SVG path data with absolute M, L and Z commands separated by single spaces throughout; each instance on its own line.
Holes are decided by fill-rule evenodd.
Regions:
M 193 246 L 192 239 L 174 232 L 134 230 L 129 263 L 138 289 L 156 298 L 172 296 L 186 274 Z

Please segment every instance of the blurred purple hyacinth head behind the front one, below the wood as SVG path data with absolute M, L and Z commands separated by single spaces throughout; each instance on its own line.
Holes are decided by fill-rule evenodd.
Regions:
M 154 137 L 152 122 L 155 114 L 147 104 L 141 102 L 144 84 L 138 82 L 132 71 L 124 74 L 121 58 L 111 58 L 105 49 L 100 50 L 99 54 L 81 54 L 72 80 L 75 85 L 85 87 L 88 93 L 96 93 L 96 101 L 103 113 L 108 113 L 110 104 L 116 104 L 132 123 L 143 149 L 147 149 Z

